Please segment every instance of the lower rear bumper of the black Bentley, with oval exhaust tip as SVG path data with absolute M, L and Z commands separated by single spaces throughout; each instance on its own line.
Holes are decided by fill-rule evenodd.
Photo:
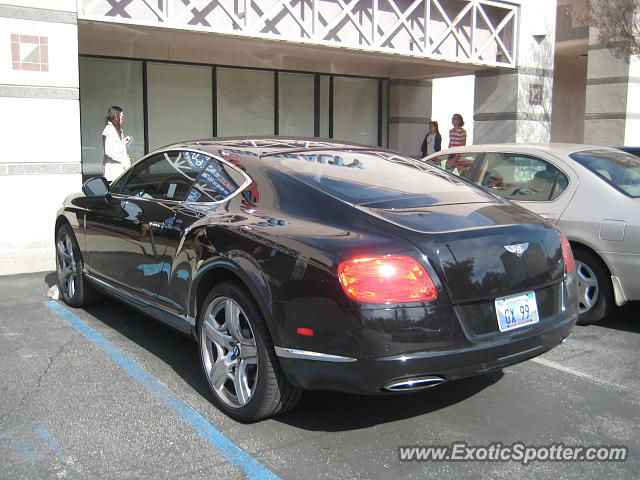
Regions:
M 573 329 L 575 313 L 549 322 L 548 328 L 519 340 L 503 339 L 449 351 L 422 351 L 368 359 L 350 357 L 305 358 L 282 355 L 288 378 L 307 390 L 337 390 L 359 394 L 383 394 L 384 385 L 412 378 L 456 380 L 499 370 L 540 355 L 562 343 Z M 313 358 L 313 356 L 311 357 Z M 435 384 L 432 382 L 428 384 Z M 427 386 L 425 383 L 423 386 Z M 387 392 L 391 394 L 391 392 Z

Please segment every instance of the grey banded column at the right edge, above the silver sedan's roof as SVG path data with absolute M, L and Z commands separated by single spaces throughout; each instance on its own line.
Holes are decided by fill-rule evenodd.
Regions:
M 584 142 L 640 145 L 640 58 L 616 58 L 590 30 Z

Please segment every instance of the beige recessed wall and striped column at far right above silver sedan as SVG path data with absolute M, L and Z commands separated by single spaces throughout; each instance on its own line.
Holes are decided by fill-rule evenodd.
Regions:
M 552 140 L 640 145 L 640 58 L 600 44 L 588 10 L 588 0 L 558 1 Z

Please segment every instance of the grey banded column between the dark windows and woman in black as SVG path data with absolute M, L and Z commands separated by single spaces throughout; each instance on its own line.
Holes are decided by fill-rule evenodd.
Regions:
M 420 157 L 431 120 L 430 80 L 391 80 L 389 84 L 389 148 Z

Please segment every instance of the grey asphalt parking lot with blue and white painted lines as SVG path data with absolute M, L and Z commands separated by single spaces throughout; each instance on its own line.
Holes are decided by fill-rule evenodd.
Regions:
M 195 344 L 52 273 L 0 277 L 0 478 L 638 478 L 640 305 L 542 357 L 417 394 L 307 392 L 252 425 L 209 401 Z M 624 446 L 626 461 L 400 461 L 401 446 Z

